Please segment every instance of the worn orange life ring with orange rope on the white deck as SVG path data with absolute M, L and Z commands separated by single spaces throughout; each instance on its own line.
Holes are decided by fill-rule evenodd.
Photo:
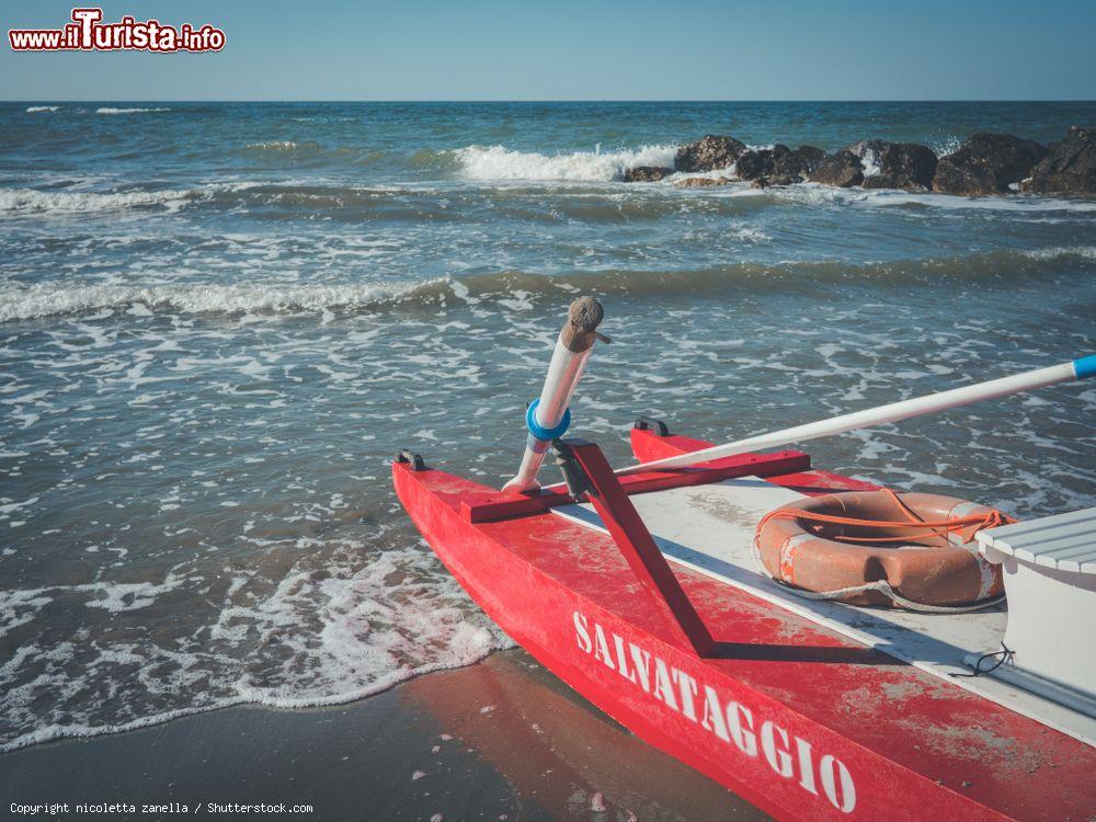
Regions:
M 843 602 L 893 605 L 884 582 L 912 603 L 962 606 L 1004 589 L 1000 566 L 972 544 L 979 529 L 1001 522 L 1009 520 L 952 496 L 852 491 L 770 512 L 754 548 L 777 581 L 819 594 L 847 591 L 832 597 Z

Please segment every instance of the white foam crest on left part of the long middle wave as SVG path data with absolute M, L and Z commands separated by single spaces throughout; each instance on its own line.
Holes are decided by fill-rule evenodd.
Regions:
M 323 311 L 393 301 L 447 282 L 437 278 L 383 285 L 7 285 L 0 286 L 0 322 L 104 308 L 132 310 L 135 306 L 184 313 Z M 142 308 L 136 312 L 144 313 Z

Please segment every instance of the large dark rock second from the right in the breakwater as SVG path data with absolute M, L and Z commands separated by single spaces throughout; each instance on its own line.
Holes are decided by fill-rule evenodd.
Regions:
M 955 153 L 941 157 L 933 191 L 943 194 L 1007 194 L 1048 153 L 1046 146 L 1011 134 L 975 134 Z

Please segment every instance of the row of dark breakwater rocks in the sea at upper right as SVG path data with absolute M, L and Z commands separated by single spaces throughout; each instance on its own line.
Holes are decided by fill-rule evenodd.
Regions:
M 1073 126 L 1060 142 L 1043 146 L 1008 134 L 975 134 L 958 150 L 937 157 L 916 142 L 860 140 L 824 153 L 784 144 L 749 148 L 729 136 L 706 135 L 677 149 L 673 168 L 628 169 L 627 182 L 657 182 L 677 174 L 682 187 L 750 182 L 756 187 L 811 182 L 847 189 L 901 189 L 963 196 L 1096 195 L 1096 128 Z

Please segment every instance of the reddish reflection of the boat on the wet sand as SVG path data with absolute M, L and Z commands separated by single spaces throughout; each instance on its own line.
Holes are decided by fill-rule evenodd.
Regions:
M 768 819 L 641 742 L 524 652 L 494 654 L 446 677 L 455 687 L 424 677 L 400 697 L 414 704 L 409 713 L 425 708 L 454 738 L 439 754 L 459 743 L 507 780 L 523 801 L 510 819 Z M 592 817 L 598 809 L 604 815 Z

